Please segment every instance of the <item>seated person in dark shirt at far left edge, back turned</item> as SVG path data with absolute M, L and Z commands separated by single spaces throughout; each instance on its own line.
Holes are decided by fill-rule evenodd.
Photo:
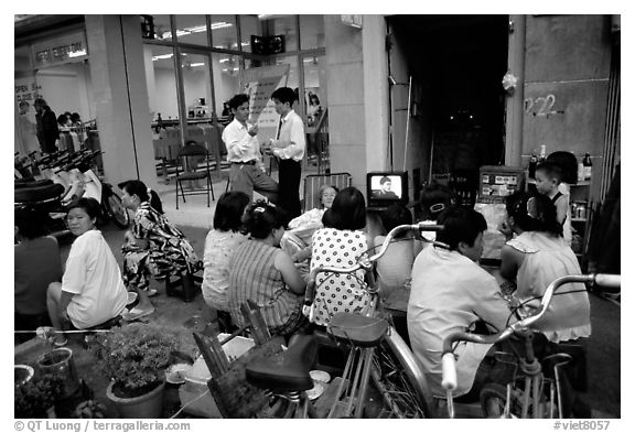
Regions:
M 14 305 L 13 324 L 15 331 L 33 331 L 40 326 L 51 326 L 46 307 L 49 284 L 62 281 L 60 247 L 53 236 L 45 236 L 42 220 L 47 215 L 39 209 L 15 209 L 14 260 Z M 33 337 L 31 334 L 15 334 L 15 343 Z

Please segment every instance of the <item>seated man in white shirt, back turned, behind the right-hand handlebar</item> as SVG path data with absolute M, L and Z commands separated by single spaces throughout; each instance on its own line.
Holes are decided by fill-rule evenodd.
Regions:
M 510 311 L 496 279 L 476 263 L 483 252 L 483 230 L 487 227 L 483 215 L 454 207 L 445 210 L 438 223 L 444 228 L 438 232 L 437 240 L 446 248 L 429 247 L 417 256 L 407 317 L 415 357 L 432 393 L 444 397 L 441 387 L 443 339 L 455 332 L 472 329 L 481 321 L 491 331 L 502 331 Z M 474 343 L 458 345 L 454 396 L 465 394 L 473 387 L 478 389 L 491 380 L 488 364 L 482 366 L 491 347 Z

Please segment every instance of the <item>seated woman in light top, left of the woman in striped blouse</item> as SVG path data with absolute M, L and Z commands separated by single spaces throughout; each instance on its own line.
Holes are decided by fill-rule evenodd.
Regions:
M 227 332 L 230 327 L 227 300 L 229 257 L 247 240 L 240 229 L 241 217 L 248 204 L 249 196 L 240 191 L 223 194 L 214 212 L 213 229 L 205 238 L 201 290 L 205 303 L 216 310 L 222 332 Z

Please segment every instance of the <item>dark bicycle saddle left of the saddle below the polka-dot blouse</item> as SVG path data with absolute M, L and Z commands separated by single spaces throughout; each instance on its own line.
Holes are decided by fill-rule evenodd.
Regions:
M 316 354 L 313 336 L 300 336 L 286 351 L 256 358 L 245 367 L 247 381 L 273 391 L 305 391 L 313 388 L 309 375 Z

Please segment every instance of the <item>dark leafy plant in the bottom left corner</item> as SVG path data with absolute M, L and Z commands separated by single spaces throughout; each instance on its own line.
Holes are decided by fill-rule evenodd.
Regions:
M 46 418 L 46 411 L 63 392 L 64 382 L 54 374 L 17 386 L 13 394 L 15 418 Z

